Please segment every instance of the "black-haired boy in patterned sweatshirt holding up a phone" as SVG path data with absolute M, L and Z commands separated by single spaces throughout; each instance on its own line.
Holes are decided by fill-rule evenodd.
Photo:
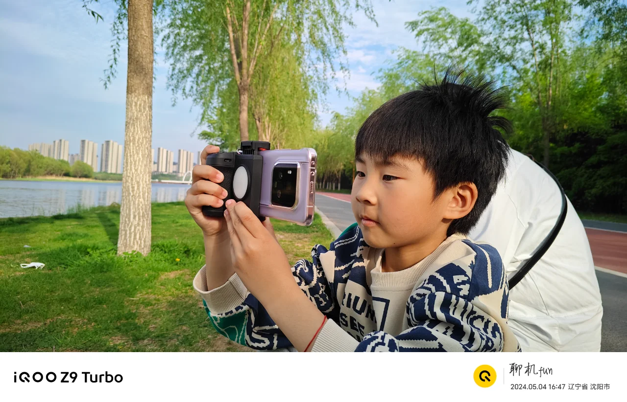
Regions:
M 221 173 L 194 167 L 186 205 L 206 250 L 194 289 L 214 327 L 258 350 L 520 351 L 501 259 L 465 236 L 505 172 L 496 128 L 510 125 L 490 116 L 504 103 L 492 83 L 447 71 L 374 111 L 355 144 L 357 224 L 291 268 L 245 204 L 202 214 L 226 191 Z

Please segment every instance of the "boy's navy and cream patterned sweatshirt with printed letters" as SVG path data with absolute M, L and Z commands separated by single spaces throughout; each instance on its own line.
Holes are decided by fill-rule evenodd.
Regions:
M 292 267 L 300 289 L 329 318 L 312 351 L 520 351 L 492 246 L 452 235 L 398 272 L 381 272 L 382 252 L 354 224 L 328 250 L 315 245 L 312 261 Z M 253 349 L 293 350 L 237 274 L 211 291 L 206 283 L 203 267 L 194 289 L 220 334 Z

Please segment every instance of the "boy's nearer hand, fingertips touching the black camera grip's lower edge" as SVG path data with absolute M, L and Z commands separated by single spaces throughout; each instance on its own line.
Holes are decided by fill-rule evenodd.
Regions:
M 270 219 L 261 223 L 246 204 L 234 200 L 226 202 L 224 217 L 233 267 L 248 291 L 264 306 L 277 296 L 277 289 L 291 287 L 300 292 Z

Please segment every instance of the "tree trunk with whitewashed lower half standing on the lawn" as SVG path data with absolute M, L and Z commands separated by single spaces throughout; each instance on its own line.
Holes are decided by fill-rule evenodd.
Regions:
M 152 171 L 152 0 L 129 0 L 124 173 L 117 254 L 150 252 Z

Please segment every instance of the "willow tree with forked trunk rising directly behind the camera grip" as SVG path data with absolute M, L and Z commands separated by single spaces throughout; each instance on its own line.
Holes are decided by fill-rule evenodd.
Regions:
M 303 55 L 305 74 L 326 82 L 336 69 L 347 72 L 340 55 L 346 53 L 343 26 L 354 25 L 353 9 L 374 20 L 369 0 L 173 1 L 163 38 L 169 88 L 201 106 L 200 122 L 206 123 L 219 94 L 234 85 L 240 140 L 248 140 L 251 85 L 260 64 L 272 57 L 273 44 L 288 38 Z

